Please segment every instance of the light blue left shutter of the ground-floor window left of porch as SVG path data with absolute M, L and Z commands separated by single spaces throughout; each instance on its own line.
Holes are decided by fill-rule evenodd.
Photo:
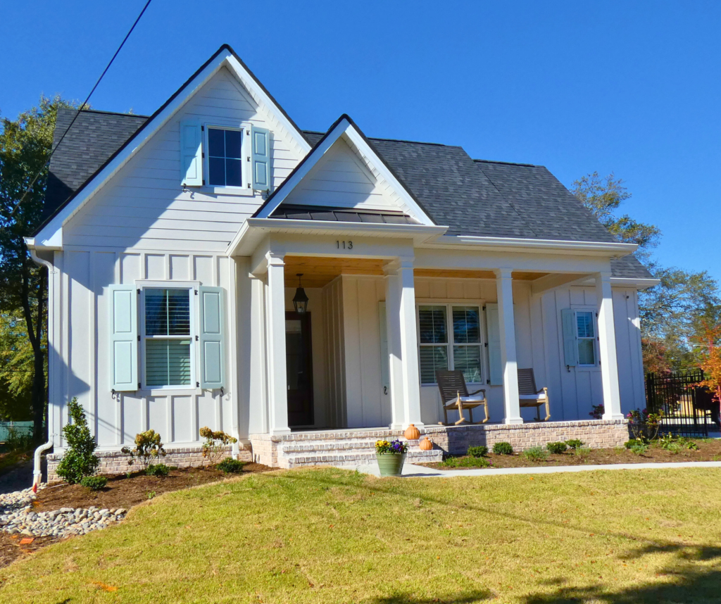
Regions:
M 133 285 L 110 285 L 110 387 L 138 389 L 138 293 Z

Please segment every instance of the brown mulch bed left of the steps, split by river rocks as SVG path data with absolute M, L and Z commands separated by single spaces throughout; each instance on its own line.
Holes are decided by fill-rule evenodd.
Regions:
M 217 482 L 232 476 L 242 476 L 253 472 L 273 470 L 262 463 L 246 463 L 243 471 L 237 474 L 224 474 L 214 468 L 173 468 L 167 476 L 145 476 L 125 474 L 109 477 L 107 487 L 102 491 L 91 491 L 79 484 L 58 484 L 42 489 L 33 502 L 36 512 L 49 512 L 61 507 L 95 507 L 126 510 L 133 505 L 152 499 L 159 494 L 180 491 L 199 484 Z M 8 535 L 0 532 L 0 568 L 6 567 L 15 559 L 30 555 L 37 549 L 61 541 L 54 537 L 36 537 L 32 543 L 21 543 L 22 535 Z

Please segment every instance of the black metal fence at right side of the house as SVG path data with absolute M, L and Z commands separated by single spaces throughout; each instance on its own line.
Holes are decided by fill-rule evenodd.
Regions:
M 719 404 L 708 388 L 698 386 L 703 379 L 701 369 L 647 374 L 647 409 L 650 413 L 663 412 L 659 434 L 699 438 L 717 430 Z

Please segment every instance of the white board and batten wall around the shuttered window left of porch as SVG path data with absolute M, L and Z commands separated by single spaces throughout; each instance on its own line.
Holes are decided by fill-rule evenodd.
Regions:
M 66 402 L 77 396 L 100 448 L 131 444 L 138 432 L 153 429 L 164 443 L 198 443 L 198 430 L 230 432 L 237 346 L 234 259 L 217 254 L 177 252 L 56 252 L 53 273 L 51 350 L 59 351 L 50 363 L 50 412 L 56 446 L 63 447 L 61 431 L 68 422 Z M 226 304 L 226 386 L 220 391 L 173 390 L 112 394 L 110 383 L 109 286 L 134 285 L 136 280 L 186 280 L 221 287 Z M 172 283 L 168 284 L 172 287 Z M 196 316 L 193 320 L 197 320 Z M 198 342 L 194 345 L 197 347 Z M 197 349 L 196 349 L 197 352 Z M 198 359 L 198 355 L 195 355 Z M 142 360 L 141 360 L 142 362 Z M 196 360 L 197 363 L 197 360 Z M 193 378 L 193 382 L 198 379 Z

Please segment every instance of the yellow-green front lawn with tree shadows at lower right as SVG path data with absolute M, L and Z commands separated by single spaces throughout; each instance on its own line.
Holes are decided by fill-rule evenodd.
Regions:
M 0 570 L 0 601 L 711 603 L 719 485 L 705 468 L 255 474 L 32 554 Z

